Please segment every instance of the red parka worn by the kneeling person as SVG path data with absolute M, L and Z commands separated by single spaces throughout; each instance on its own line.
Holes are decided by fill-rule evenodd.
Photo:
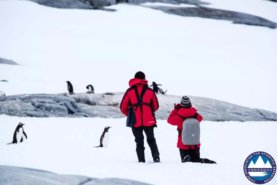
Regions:
M 194 116 L 196 114 L 196 109 L 191 107 L 191 108 L 181 108 L 179 111 L 177 109 L 174 109 L 171 114 L 168 116 L 167 122 L 171 125 L 176 125 L 180 130 L 183 130 L 183 122 L 184 119 L 181 118 L 180 116 L 177 115 L 177 113 L 180 116 L 183 117 L 191 117 Z M 203 120 L 203 117 L 198 114 L 197 118 L 196 118 L 199 122 L 201 122 Z M 176 134 L 178 134 L 176 132 Z M 189 149 L 189 145 L 183 145 L 182 143 L 182 133 L 180 133 L 179 137 L 178 137 L 178 142 L 177 142 L 177 147 L 181 148 L 181 149 Z M 197 145 L 197 148 L 200 147 L 200 143 Z M 194 145 L 191 145 L 191 149 L 195 149 Z

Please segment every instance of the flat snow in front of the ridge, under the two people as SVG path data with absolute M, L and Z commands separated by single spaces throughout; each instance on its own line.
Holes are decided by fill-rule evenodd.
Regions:
M 176 127 L 158 120 L 155 138 L 161 162 L 154 164 L 145 139 L 146 163 L 138 163 L 134 136 L 125 118 L 19 118 L 0 115 L 0 165 L 37 168 L 60 174 L 96 178 L 125 178 L 152 184 L 249 184 L 243 163 L 255 151 L 277 158 L 272 143 L 275 122 L 201 122 L 201 157 L 217 164 L 181 163 Z M 12 141 L 19 122 L 28 139 Z M 99 145 L 104 127 L 110 128 L 107 148 Z M 230 176 L 232 171 L 232 176 Z M 271 184 L 277 182 L 273 178 Z

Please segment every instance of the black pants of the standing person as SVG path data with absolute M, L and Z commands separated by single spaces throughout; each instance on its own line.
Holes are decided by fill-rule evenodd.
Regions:
M 154 137 L 154 127 L 153 126 L 139 126 L 139 127 L 132 127 L 133 134 L 135 136 L 135 142 L 137 143 L 137 156 L 139 162 L 145 162 L 144 158 L 144 137 L 143 137 L 143 130 L 147 138 L 147 143 L 151 149 L 152 157 L 154 153 L 159 153 L 158 146 L 156 144 L 156 139 Z

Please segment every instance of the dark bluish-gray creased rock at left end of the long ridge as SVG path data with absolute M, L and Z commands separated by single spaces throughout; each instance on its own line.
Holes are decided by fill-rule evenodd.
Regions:
M 37 94 L 0 98 L 0 112 L 15 116 L 49 117 L 83 113 L 83 110 L 74 98 Z

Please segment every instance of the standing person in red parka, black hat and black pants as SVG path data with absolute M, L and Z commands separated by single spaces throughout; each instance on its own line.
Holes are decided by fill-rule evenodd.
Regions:
M 152 157 L 154 163 L 160 162 L 160 153 L 156 144 L 156 139 L 154 137 L 154 127 L 157 127 L 155 111 L 159 108 L 158 99 L 152 88 L 148 87 L 147 80 L 145 80 L 145 74 L 143 72 L 137 72 L 135 78 L 129 81 L 130 88 L 125 92 L 122 101 L 120 103 L 120 110 L 125 116 L 128 116 L 129 109 L 135 109 L 135 104 L 138 103 L 137 96 L 135 93 L 135 88 L 137 92 L 142 93 L 142 89 L 145 86 L 146 91 L 142 98 L 142 103 L 140 103 L 137 111 L 135 112 L 136 123 L 132 127 L 133 134 L 135 136 L 135 142 L 137 143 L 137 156 L 139 162 L 145 163 L 144 157 L 144 137 L 143 130 L 147 137 L 147 143 L 151 149 Z M 136 87 L 135 87 L 136 86 Z

